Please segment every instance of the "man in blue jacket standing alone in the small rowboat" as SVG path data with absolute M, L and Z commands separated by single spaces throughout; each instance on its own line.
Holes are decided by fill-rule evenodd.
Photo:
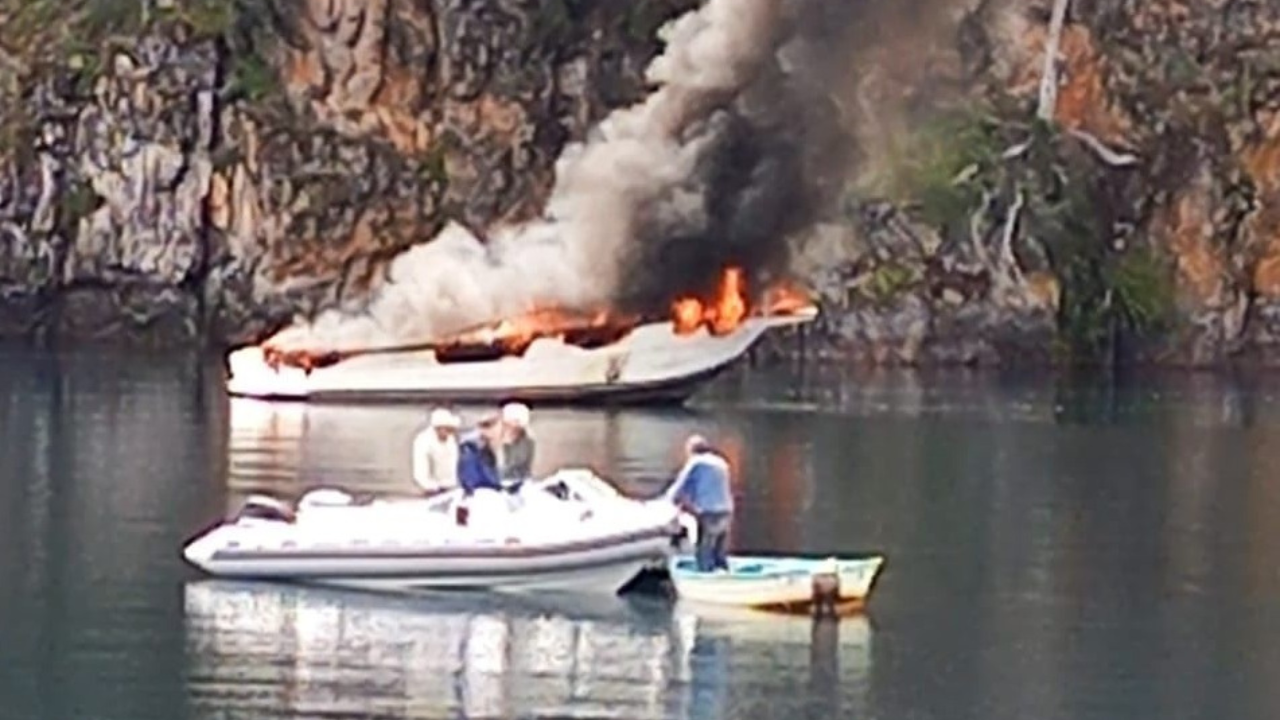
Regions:
M 685 465 L 667 491 L 667 497 L 698 519 L 698 570 L 728 570 L 728 530 L 733 520 L 733 492 L 728 461 L 707 438 L 685 441 Z

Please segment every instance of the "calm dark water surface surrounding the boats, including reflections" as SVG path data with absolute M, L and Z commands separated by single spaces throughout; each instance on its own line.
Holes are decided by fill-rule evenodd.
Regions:
M 739 550 L 878 550 L 832 629 L 657 602 L 210 582 L 247 492 L 410 492 L 422 409 L 228 401 L 216 364 L 0 354 L 0 716 L 1280 717 L 1280 389 L 727 378 L 698 407 L 536 411 L 539 464 L 739 470 Z M 535 409 L 536 410 L 536 409 Z

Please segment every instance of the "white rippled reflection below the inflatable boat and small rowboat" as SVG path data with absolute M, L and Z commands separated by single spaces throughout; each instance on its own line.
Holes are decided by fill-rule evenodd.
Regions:
M 620 598 L 212 580 L 183 593 L 188 691 L 206 716 L 710 719 L 865 702 L 864 619 L 818 625 L 815 643 L 804 619 Z

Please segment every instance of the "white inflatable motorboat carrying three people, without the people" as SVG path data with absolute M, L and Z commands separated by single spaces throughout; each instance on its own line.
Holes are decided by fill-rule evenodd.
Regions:
M 183 555 L 219 578 L 389 592 L 616 593 L 666 560 L 682 521 L 668 502 L 630 500 L 589 470 L 563 470 L 470 498 L 452 491 L 361 502 L 320 489 L 289 506 L 255 496 Z

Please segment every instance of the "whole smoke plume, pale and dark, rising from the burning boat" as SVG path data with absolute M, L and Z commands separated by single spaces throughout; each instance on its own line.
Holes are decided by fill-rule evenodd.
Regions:
M 543 218 L 485 241 L 449 224 L 364 305 L 269 343 L 394 346 L 545 306 L 662 311 L 727 265 L 759 288 L 786 268 L 787 237 L 845 188 L 850 44 L 870 41 L 855 31 L 877 6 L 893 0 L 707 0 L 664 28 L 655 90 L 564 149 Z

